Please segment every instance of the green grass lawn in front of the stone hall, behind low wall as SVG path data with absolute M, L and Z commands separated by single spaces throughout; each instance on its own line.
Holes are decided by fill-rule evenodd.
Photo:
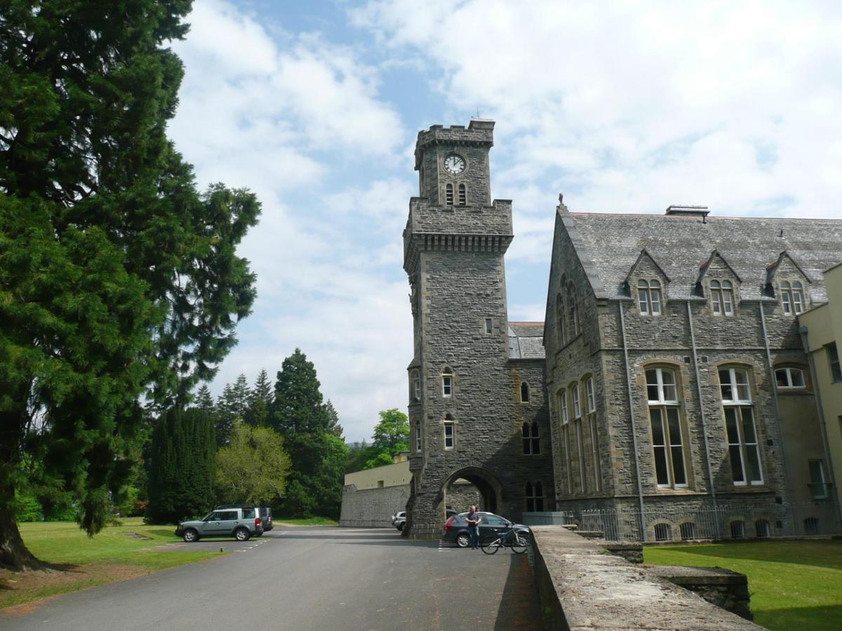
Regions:
M 749 577 L 754 622 L 773 629 L 842 628 L 842 541 L 749 541 L 644 549 L 647 563 L 707 565 Z

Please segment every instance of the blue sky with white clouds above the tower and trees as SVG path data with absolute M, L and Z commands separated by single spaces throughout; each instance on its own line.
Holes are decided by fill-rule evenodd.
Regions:
M 253 315 L 215 394 L 301 347 L 345 436 L 405 409 L 401 232 L 429 125 L 497 121 L 510 320 L 541 320 L 573 211 L 842 217 L 839 3 L 196 0 L 170 125 L 202 186 L 251 188 Z

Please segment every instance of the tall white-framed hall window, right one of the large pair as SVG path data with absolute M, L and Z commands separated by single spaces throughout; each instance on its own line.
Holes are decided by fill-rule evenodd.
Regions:
M 760 468 L 759 441 L 754 427 L 749 371 L 742 368 L 719 369 L 719 390 L 733 484 L 762 485 L 763 471 Z

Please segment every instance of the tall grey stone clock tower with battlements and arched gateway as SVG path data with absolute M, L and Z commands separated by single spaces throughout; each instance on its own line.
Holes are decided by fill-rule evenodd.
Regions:
M 439 537 L 445 507 L 464 512 L 476 502 L 514 519 L 536 482 L 552 489 L 542 349 L 540 358 L 513 349 L 518 333 L 506 312 L 512 209 L 491 199 L 493 129 L 481 119 L 433 125 L 415 147 L 420 196 L 403 232 L 414 324 L 404 533 L 413 538 Z M 524 424 L 538 437 L 528 446 Z

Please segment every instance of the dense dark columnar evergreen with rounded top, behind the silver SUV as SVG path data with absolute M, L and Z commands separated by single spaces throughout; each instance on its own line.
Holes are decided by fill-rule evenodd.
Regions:
M 216 440 L 204 410 L 168 411 L 152 436 L 147 518 L 172 523 L 213 507 Z

